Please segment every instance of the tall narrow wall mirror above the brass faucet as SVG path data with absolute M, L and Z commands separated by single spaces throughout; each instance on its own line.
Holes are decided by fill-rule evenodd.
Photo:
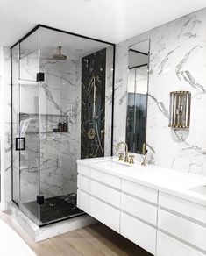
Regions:
M 132 153 L 146 152 L 149 39 L 129 47 L 126 143 Z

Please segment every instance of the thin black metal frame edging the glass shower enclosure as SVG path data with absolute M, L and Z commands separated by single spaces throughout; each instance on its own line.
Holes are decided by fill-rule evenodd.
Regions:
M 13 120 L 13 115 L 12 115 L 12 110 L 13 110 L 13 94 L 12 94 L 12 85 L 13 85 L 13 81 L 12 81 L 12 49 L 13 47 L 17 46 L 19 43 L 21 43 L 22 41 L 24 41 L 26 38 L 28 38 L 33 32 L 35 32 L 36 30 L 38 30 L 39 28 L 46 28 L 46 29 L 50 29 L 56 32 L 62 32 L 62 33 L 67 33 L 69 35 L 73 35 L 82 39 L 89 39 L 89 40 L 94 40 L 96 42 L 100 42 L 103 44 L 107 44 L 110 46 L 113 46 L 113 77 L 112 77 L 112 105 L 111 105 L 111 147 L 110 147 L 110 154 L 111 156 L 113 155 L 113 138 L 114 138 L 114 134 L 113 134 L 113 126 L 114 126 L 114 97 L 115 97 L 115 55 L 116 55 L 116 45 L 107 41 L 103 41 L 101 39 L 94 39 L 94 38 L 90 38 L 88 36 L 84 36 L 84 35 L 80 35 L 80 34 L 76 34 L 74 32 L 67 32 L 65 30 L 60 30 L 58 28 L 52 27 L 52 26 L 48 26 L 48 25 L 42 25 L 42 24 L 38 24 L 36 25 L 34 28 L 32 28 L 31 31 L 27 32 L 25 34 L 24 37 L 22 37 L 21 39 L 18 40 L 18 42 L 16 42 L 13 46 L 11 46 L 11 200 L 13 203 L 15 203 L 16 205 L 18 205 L 17 202 L 15 202 L 15 200 L 13 199 L 13 124 L 12 124 L 12 120 Z M 20 46 L 19 46 L 20 47 Z M 18 205 L 19 206 L 19 205 Z M 75 217 L 75 216 L 74 216 Z M 66 217 L 63 220 L 69 219 L 72 217 Z M 48 224 L 53 224 L 53 223 L 58 223 L 62 221 L 62 219 L 60 220 L 56 220 L 53 221 L 51 223 Z M 48 224 L 41 224 L 39 225 L 41 226 L 45 226 Z

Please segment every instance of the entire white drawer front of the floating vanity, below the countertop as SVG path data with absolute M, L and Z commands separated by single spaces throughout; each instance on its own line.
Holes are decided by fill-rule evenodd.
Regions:
M 141 183 L 141 184 L 140 184 Z M 78 164 L 77 206 L 155 256 L 206 255 L 206 205 Z

